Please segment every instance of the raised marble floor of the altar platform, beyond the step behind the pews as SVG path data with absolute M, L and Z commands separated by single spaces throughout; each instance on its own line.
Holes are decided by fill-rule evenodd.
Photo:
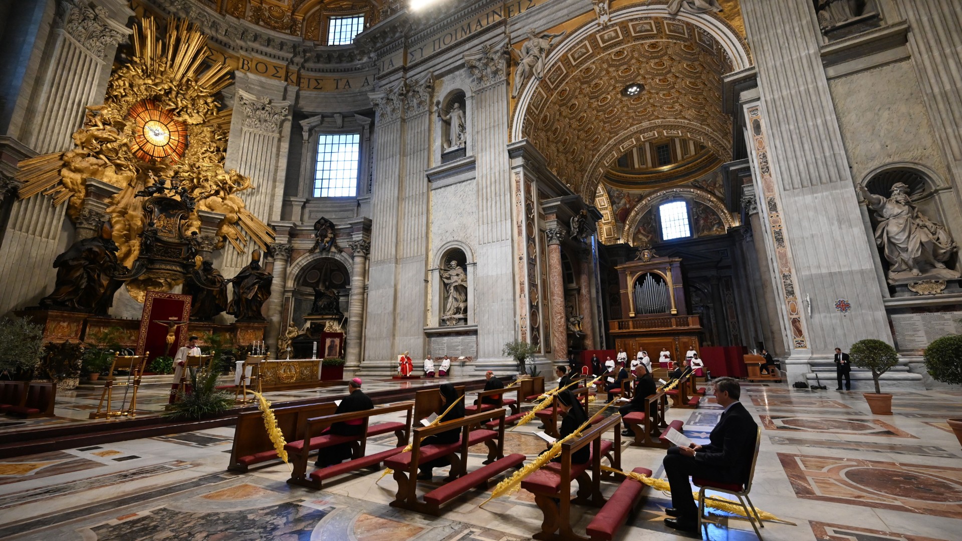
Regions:
M 426 378 L 399 381 L 390 377 L 368 377 L 365 381 L 365 389 L 369 393 L 377 391 L 390 391 L 394 389 L 417 389 L 425 385 L 438 385 L 439 382 L 450 381 L 454 384 L 463 384 L 465 381 L 477 381 L 482 379 L 480 375 L 470 375 L 466 377 L 448 378 Z M 232 388 L 233 389 L 233 388 Z M 234 391 L 230 391 L 234 394 Z M 290 400 L 313 399 L 317 397 L 334 397 L 345 394 L 342 385 L 333 387 L 322 387 L 319 389 L 300 389 L 291 391 L 268 391 L 264 394 L 271 403 L 280 403 Z M 102 390 L 79 388 L 72 391 L 58 391 L 57 403 L 54 405 L 53 417 L 38 417 L 34 419 L 13 419 L 0 416 L 0 434 L 7 430 L 18 430 L 22 428 L 32 428 L 46 425 L 63 425 L 84 422 L 103 423 L 103 419 L 91 421 L 90 412 L 97 410 L 100 402 Z M 168 399 L 170 398 L 170 385 L 142 385 L 137 396 L 137 416 L 156 417 L 165 411 Z M 118 409 L 121 404 L 126 404 L 131 397 L 125 395 L 124 387 L 114 388 L 114 409 Z M 125 401 L 126 400 L 126 401 Z M 106 404 L 105 404 L 106 405 Z M 123 423 L 123 420 L 115 422 Z

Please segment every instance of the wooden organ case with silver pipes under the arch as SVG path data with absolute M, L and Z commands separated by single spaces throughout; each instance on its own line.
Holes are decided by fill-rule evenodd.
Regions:
M 698 316 L 689 315 L 681 277 L 681 259 L 659 257 L 650 248 L 639 251 L 638 258 L 615 268 L 619 274 L 621 306 L 627 307 L 627 320 L 608 322 L 619 351 L 634 358 L 647 351 L 653 366 L 663 349 L 671 360 L 685 358 L 685 352 L 700 352 Z

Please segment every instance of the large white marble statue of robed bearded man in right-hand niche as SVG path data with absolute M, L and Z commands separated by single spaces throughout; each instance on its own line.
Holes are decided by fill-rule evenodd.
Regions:
M 959 276 L 945 265 L 958 246 L 945 227 L 919 212 L 908 196 L 908 186 L 897 182 L 888 197 L 874 195 L 864 186 L 858 189 L 878 220 L 875 243 L 889 262 L 889 283 L 923 275 Z

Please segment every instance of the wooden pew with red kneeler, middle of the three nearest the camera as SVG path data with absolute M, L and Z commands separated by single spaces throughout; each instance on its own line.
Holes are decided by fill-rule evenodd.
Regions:
M 394 480 L 397 481 L 397 493 L 394 496 L 393 502 L 391 502 L 391 506 L 437 515 L 438 505 L 441 502 L 447 501 L 458 494 L 462 494 L 482 482 L 482 479 L 479 479 L 478 476 L 466 475 L 468 468 L 468 449 L 480 443 L 488 446 L 488 460 L 493 461 L 488 466 L 494 466 L 494 468 L 488 468 L 488 466 L 486 466 L 478 470 L 479 472 L 484 471 L 484 475 L 487 476 L 483 480 L 494 477 L 504 470 L 513 467 L 509 464 L 517 466 L 520 461 L 523 461 L 523 456 L 520 457 L 520 461 L 517 456 L 510 460 L 503 460 L 506 458 L 504 456 L 504 414 L 505 410 L 495 409 L 494 411 L 468 415 L 462 419 L 448 421 L 440 425 L 415 428 L 411 440 L 411 451 L 395 454 L 384 461 L 385 466 L 394 471 Z M 498 421 L 496 430 L 477 427 L 491 420 Z M 462 428 L 460 442 L 421 446 L 421 441 L 427 436 L 459 426 Z M 425 495 L 425 502 L 418 501 L 416 491 L 418 485 L 418 465 L 443 456 L 449 457 L 451 461 L 450 475 L 445 479 L 446 483 L 444 485 L 444 487 L 450 488 L 447 488 L 443 494 L 440 494 L 440 496 L 444 498 L 434 499 L 433 502 L 429 502 L 427 501 L 427 497 L 432 495 L 432 493 L 428 493 Z M 465 480 L 458 479 L 458 477 L 464 477 Z M 450 494 L 452 490 L 456 492 L 454 496 Z M 439 496 L 439 494 L 434 494 L 433 496 Z

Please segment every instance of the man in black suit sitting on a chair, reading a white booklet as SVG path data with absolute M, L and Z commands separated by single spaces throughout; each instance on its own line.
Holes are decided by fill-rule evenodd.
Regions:
M 706 446 L 671 447 L 663 464 L 671 484 L 671 507 L 665 519 L 671 528 L 697 531 L 697 507 L 688 477 L 701 477 L 724 483 L 745 483 L 751 473 L 758 425 L 742 402 L 741 387 L 731 377 L 715 380 L 715 399 L 724 407 L 722 419 L 708 436 Z

